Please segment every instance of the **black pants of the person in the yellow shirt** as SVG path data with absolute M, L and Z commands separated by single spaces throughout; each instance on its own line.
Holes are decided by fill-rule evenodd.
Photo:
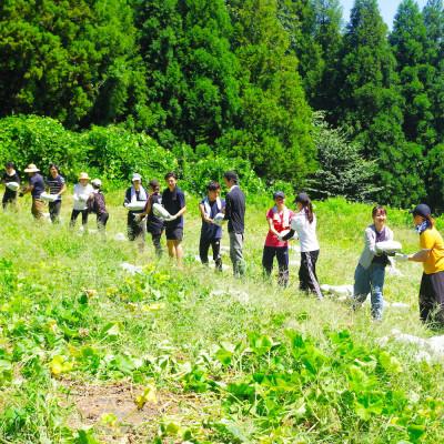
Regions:
M 420 287 L 420 317 L 444 325 L 444 271 L 423 273 Z

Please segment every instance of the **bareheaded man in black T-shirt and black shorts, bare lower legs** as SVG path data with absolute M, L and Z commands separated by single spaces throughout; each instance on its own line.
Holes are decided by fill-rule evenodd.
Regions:
M 183 249 L 183 214 L 186 211 L 185 194 L 178 186 L 178 176 L 170 171 L 165 174 L 167 189 L 162 193 L 162 204 L 171 214 L 165 221 L 168 254 L 175 258 L 178 265 L 182 264 Z

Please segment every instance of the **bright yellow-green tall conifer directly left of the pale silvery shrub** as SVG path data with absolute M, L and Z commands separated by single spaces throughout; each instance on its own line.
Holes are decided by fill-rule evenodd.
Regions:
M 278 19 L 278 1 L 228 4 L 232 48 L 243 67 L 242 109 L 219 145 L 248 158 L 262 175 L 302 181 L 316 165 L 311 109 L 290 36 Z

